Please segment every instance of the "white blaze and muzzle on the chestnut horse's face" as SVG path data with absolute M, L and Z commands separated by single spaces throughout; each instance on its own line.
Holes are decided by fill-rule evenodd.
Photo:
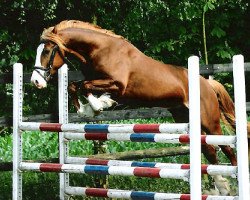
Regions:
M 36 62 L 35 62 L 36 67 L 43 67 L 41 64 L 41 54 L 42 54 L 43 49 L 44 49 L 43 43 L 37 47 Z M 44 74 L 45 74 L 45 71 L 40 70 L 40 69 L 36 69 L 32 73 L 31 82 L 39 89 L 47 87 L 47 82 L 43 78 Z

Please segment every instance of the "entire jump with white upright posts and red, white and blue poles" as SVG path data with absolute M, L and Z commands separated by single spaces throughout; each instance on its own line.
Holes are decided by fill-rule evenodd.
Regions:
M 248 150 L 244 89 L 244 61 L 234 57 L 234 85 L 236 105 L 236 136 L 200 135 L 199 60 L 189 58 L 189 123 L 177 124 L 69 124 L 68 75 L 66 67 L 59 70 L 59 123 L 22 121 L 22 65 L 14 65 L 13 97 L 13 199 L 22 199 L 22 172 L 60 173 L 60 199 L 71 195 L 122 199 L 240 199 L 249 200 Z M 59 133 L 60 163 L 28 163 L 22 160 L 22 131 L 50 131 Z M 188 134 L 187 134 L 188 133 Z M 66 140 L 115 140 L 161 143 L 190 143 L 190 164 L 144 163 L 71 157 Z M 230 145 L 237 148 L 238 166 L 201 165 L 201 145 Z M 122 175 L 151 178 L 182 179 L 190 183 L 190 194 L 142 192 L 73 187 L 69 173 Z M 201 193 L 201 174 L 237 177 L 238 196 L 208 196 Z M 224 180 L 224 179 L 222 179 Z M 218 186 L 218 185 L 217 185 Z M 224 187 L 224 188 L 223 188 Z M 222 186 L 225 189 L 225 185 Z

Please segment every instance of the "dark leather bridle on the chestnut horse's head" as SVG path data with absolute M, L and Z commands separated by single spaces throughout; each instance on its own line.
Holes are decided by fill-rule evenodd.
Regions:
M 49 59 L 49 62 L 46 66 L 46 68 L 44 67 L 40 67 L 40 66 L 35 66 L 34 68 L 34 71 L 36 71 L 46 82 L 48 82 L 52 75 L 50 73 L 50 70 L 53 69 L 53 62 L 54 62 L 54 59 L 55 59 L 55 55 L 56 53 L 58 52 L 58 54 L 60 55 L 60 57 L 63 59 L 63 61 L 68 64 L 68 65 L 71 65 L 73 66 L 75 69 L 75 65 L 66 57 L 63 55 L 62 51 L 60 50 L 59 46 L 57 44 L 55 44 L 53 50 L 52 50 L 52 53 L 50 55 L 50 59 Z M 42 74 L 40 72 L 40 70 L 44 71 L 45 73 Z

